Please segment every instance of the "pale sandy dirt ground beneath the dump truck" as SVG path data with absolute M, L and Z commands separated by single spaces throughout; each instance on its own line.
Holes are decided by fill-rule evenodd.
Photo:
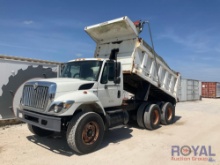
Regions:
M 87 155 L 72 152 L 65 135 L 37 137 L 26 124 L 4 126 L 0 127 L 0 164 L 220 165 L 219 128 L 220 99 L 178 103 L 175 123 L 157 130 L 132 125 L 108 131 L 100 148 Z

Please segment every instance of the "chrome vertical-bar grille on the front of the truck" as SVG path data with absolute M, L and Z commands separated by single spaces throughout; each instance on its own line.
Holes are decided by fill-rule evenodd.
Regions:
M 22 104 L 27 107 L 44 110 L 49 101 L 49 87 L 25 85 L 22 95 Z

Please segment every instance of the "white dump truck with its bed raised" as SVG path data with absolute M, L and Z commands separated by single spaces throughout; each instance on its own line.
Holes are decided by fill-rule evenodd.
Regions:
M 27 82 L 18 119 L 38 136 L 65 131 L 78 154 L 129 122 L 149 130 L 173 123 L 180 74 L 139 37 L 143 25 L 125 16 L 85 27 L 94 56 L 65 63 L 58 78 Z

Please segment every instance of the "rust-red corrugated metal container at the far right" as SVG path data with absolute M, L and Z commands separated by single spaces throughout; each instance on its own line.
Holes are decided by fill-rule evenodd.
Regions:
M 220 97 L 220 82 L 202 82 L 202 97 Z

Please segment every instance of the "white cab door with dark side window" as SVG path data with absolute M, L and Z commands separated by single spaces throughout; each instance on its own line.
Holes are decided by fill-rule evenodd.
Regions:
M 116 62 L 109 60 L 105 63 L 98 84 L 98 97 L 104 108 L 122 104 L 122 81 L 114 81 L 117 77 Z M 118 67 L 120 68 L 120 67 Z M 121 71 L 119 77 L 121 77 Z M 121 78 L 120 78 L 121 79 Z

